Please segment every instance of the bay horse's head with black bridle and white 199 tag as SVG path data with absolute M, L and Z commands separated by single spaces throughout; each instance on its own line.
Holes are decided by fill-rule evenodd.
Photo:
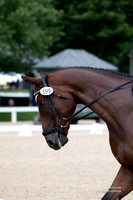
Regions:
M 42 134 L 47 144 L 54 150 L 60 149 L 68 142 L 70 121 L 68 118 L 74 113 L 76 105 L 73 92 L 66 84 L 59 84 L 54 79 L 53 84 L 49 76 L 32 78 L 22 76 L 23 80 L 34 86 L 35 100 L 38 105 Z

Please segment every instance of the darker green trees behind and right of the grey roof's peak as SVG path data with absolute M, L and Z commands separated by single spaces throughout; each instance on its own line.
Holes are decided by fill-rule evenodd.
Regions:
M 55 43 L 57 51 L 84 48 L 128 73 L 128 54 L 133 48 L 133 1 L 56 0 L 54 5 L 64 12 L 65 35 Z

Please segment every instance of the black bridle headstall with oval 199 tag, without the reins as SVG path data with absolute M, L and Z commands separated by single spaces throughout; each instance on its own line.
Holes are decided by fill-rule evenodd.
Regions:
M 63 98 L 63 99 L 71 100 L 71 101 L 74 101 L 74 100 L 69 98 L 69 97 L 54 93 L 53 89 L 51 87 L 49 87 L 49 85 L 48 85 L 47 78 L 48 78 L 47 74 L 45 74 L 45 77 L 41 76 L 42 83 L 43 83 L 44 87 L 41 90 L 39 90 L 39 91 L 34 93 L 35 98 L 39 94 L 42 94 L 42 95 L 47 97 L 48 104 L 49 104 L 49 109 L 50 109 L 50 113 L 51 113 L 52 120 L 53 120 L 53 125 L 54 125 L 54 128 L 52 128 L 50 130 L 47 130 L 47 131 L 43 131 L 42 134 L 44 136 L 46 136 L 46 135 L 49 135 L 49 134 L 54 133 L 55 131 L 57 131 L 58 133 L 61 133 L 62 135 L 66 136 L 66 133 L 63 131 L 63 128 L 66 128 L 69 125 L 69 121 L 68 121 L 67 118 L 62 117 L 61 112 L 59 111 L 56 103 L 53 100 L 52 94 L 57 96 L 57 97 L 59 97 L 59 98 Z M 55 109 L 55 111 L 56 111 L 56 113 L 58 114 L 58 117 L 59 117 L 59 124 L 58 125 L 56 125 L 56 120 L 55 120 L 53 108 Z

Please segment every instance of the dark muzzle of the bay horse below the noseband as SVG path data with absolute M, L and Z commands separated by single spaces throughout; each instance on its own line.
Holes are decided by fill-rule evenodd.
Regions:
M 46 138 L 48 146 L 54 150 L 61 149 L 68 142 L 67 136 L 58 132 L 49 134 L 45 136 L 45 138 Z

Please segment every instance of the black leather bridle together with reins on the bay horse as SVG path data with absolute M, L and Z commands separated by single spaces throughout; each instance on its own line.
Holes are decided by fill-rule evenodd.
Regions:
M 45 74 L 45 76 L 41 76 L 41 80 L 42 80 L 42 83 L 44 85 L 44 88 L 42 88 L 42 89 L 45 90 L 45 88 L 49 88 L 49 90 L 51 90 L 52 92 L 49 93 L 49 94 L 43 94 L 41 92 L 41 90 L 42 90 L 41 89 L 41 90 L 39 90 L 39 91 L 37 91 L 37 92 L 34 93 L 35 97 L 37 97 L 37 95 L 39 95 L 39 94 L 42 94 L 42 95 L 45 95 L 48 98 L 48 104 L 49 104 L 49 108 L 50 108 L 50 112 L 51 112 L 51 116 L 52 116 L 52 120 L 53 120 L 54 128 L 52 128 L 50 130 L 47 130 L 47 131 L 43 131 L 42 132 L 43 136 L 49 135 L 51 133 L 54 133 L 55 131 L 57 131 L 58 133 L 60 133 L 60 134 L 62 134 L 64 136 L 66 136 L 66 133 L 64 132 L 63 129 L 66 128 L 69 125 L 69 121 L 71 121 L 76 115 L 78 115 L 80 112 L 82 112 L 85 108 L 87 108 L 87 107 L 91 106 L 92 104 L 94 104 L 96 101 L 98 101 L 103 96 L 105 96 L 105 95 L 107 95 L 107 94 L 109 94 L 111 92 L 114 92 L 114 91 L 116 91 L 116 90 L 118 90 L 118 89 L 120 89 L 120 88 L 122 88 L 122 87 L 124 87 L 124 86 L 126 86 L 128 84 L 130 84 L 131 82 L 133 82 L 133 79 L 129 80 L 127 82 L 124 82 L 121 85 L 118 85 L 118 86 L 116 86 L 116 87 L 108 90 L 107 92 L 102 93 L 100 96 L 98 96 L 93 101 L 91 101 L 90 103 L 88 103 L 87 105 L 85 105 L 82 109 L 80 109 L 79 111 L 77 111 L 76 113 L 74 113 L 69 118 L 64 118 L 64 117 L 62 117 L 62 114 L 61 114 L 60 110 L 58 109 L 56 103 L 54 102 L 52 95 L 55 95 L 55 96 L 57 96 L 59 98 L 63 98 L 63 99 L 66 99 L 66 100 L 71 100 L 71 101 L 74 101 L 74 99 L 66 97 L 66 96 L 63 96 L 63 95 L 60 95 L 60 94 L 54 93 L 53 89 L 51 87 L 49 87 L 47 79 L 48 79 L 48 74 Z M 133 87 L 132 87 L 132 95 L 133 95 Z M 55 117 L 54 117 L 53 107 L 54 107 L 54 109 L 55 109 L 55 111 L 56 111 L 56 113 L 58 114 L 58 117 L 59 117 L 59 124 L 58 125 L 56 125 L 56 120 L 55 120 Z M 84 115 L 81 118 L 78 118 L 78 120 L 82 119 L 82 118 L 85 118 L 86 116 L 91 115 L 92 113 L 93 112 L 90 112 L 89 114 Z

